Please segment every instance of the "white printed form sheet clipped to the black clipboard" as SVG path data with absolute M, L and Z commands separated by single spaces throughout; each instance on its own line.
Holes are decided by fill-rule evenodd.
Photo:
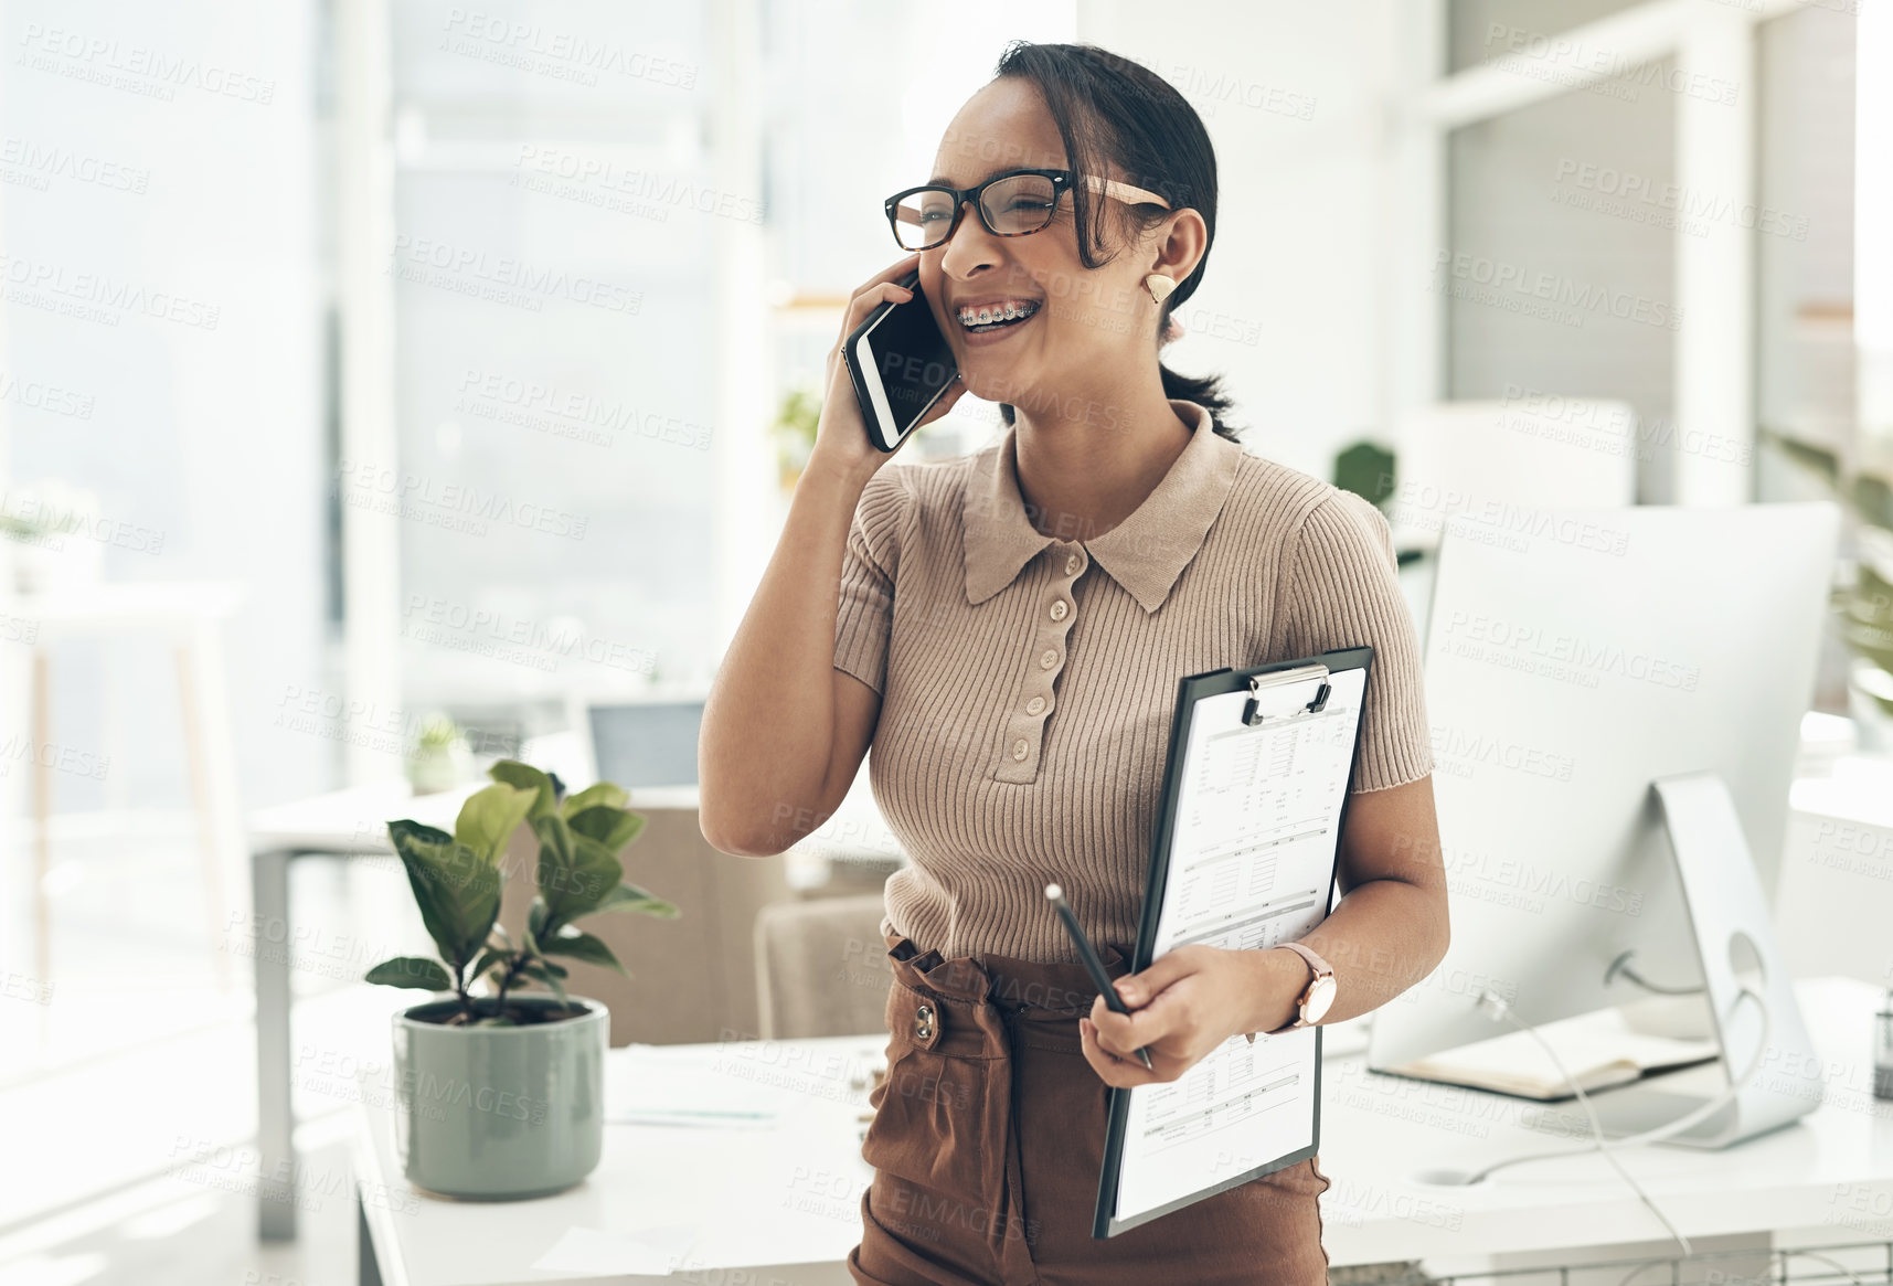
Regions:
M 1257 951 L 1327 919 L 1340 807 L 1367 669 L 1338 670 L 1325 708 L 1247 727 L 1247 691 L 1191 716 L 1153 958 L 1202 943 Z M 1316 680 L 1265 691 L 1306 706 Z M 1117 1218 L 1147 1214 L 1314 1142 L 1316 1032 L 1232 1036 L 1176 1081 L 1130 1091 Z

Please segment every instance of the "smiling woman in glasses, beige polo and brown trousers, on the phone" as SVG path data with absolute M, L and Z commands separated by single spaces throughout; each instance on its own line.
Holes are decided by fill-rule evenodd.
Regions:
M 1420 650 L 1386 519 L 1246 451 L 1217 381 L 1159 362 L 1215 218 L 1208 133 L 1164 80 L 1094 45 L 1007 47 L 890 210 L 909 254 L 840 324 L 905 299 L 893 280 L 918 265 L 960 366 L 935 417 L 973 392 L 1003 438 L 886 468 L 837 343 L 814 455 L 704 710 L 717 848 L 787 848 L 873 744 L 911 860 L 886 888 L 890 1072 L 858 1282 L 1319 1286 L 1314 1161 L 1094 1241 L 1107 1091 L 1306 1019 L 1318 970 L 1338 1021 L 1444 955 Z M 1340 903 L 1293 949 L 1183 947 L 1126 977 L 1177 678 L 1359 644 L 1374 665 Z M 1051 881 L 1128 1017 L 1075 964 Z

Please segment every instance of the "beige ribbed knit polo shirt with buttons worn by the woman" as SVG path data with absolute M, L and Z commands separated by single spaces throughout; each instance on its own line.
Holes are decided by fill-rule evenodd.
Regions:
M 1170 405 L 1189 445 L 1092 540 L 1032 525 L 1015 426 L 861 492 L 835 669 L 882 697 L 869 782 L 909 856 L 882 928 L 922 951 L 1073 960 L 1056 881 L 1092 941 L 1130 955 L 1185 674 L 1369 644 L 1353 790 L 1433 771 L 1388 521 Z

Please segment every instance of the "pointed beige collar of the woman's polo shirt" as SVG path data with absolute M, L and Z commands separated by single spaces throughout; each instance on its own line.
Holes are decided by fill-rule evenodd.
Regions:
M 1134 597 L 1155 612 L 1170 587 L 1202 549 L 1210 525 L 1236 481 L 1244 449 L 1212 428 L 1210 411 L 1196 402 L 1170 398 L 1170 407 L 1191 424 L 1189 445 L 1143 504 L 1096 540 L 1077 542 Z M 962 508 L 965 534 L 965 597 L 984 602 L 1011 585 L 1041 549 L 1058 544 L 1026 517 L 1018 494 L 1018 426 L 973 456 Z

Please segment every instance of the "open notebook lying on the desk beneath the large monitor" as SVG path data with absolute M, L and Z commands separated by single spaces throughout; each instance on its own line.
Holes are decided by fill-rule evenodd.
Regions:
M 1558 1063 L 1564 1063 L 1586 1095 L 1611 1085 L 1628 1085 L 1656 1072 L 1711 1063 L 1723 1053 L 1713 1040 L 1681 1040 L 1639 1032 L 1619 1009 L 1596 1009 L 1556 1023 L 1541 1023 L 1537 1034 L 1558 1053 Z M 1575 1098 L 1545 1047 L 1530 1032 L 1518 1030 L 1442 1049 L 1386 1070 L 1395 1076 L 1490 1089 L 1541 1102 Z

